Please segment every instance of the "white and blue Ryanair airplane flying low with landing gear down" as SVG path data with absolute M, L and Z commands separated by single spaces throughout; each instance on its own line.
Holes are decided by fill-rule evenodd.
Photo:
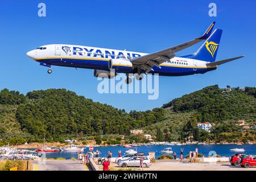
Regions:
M 143 74 L 158 73 L 159 76 L 185 76 L 203 74 L 217 69 L 218 65 L 228 63 L 241 57 L 233 57 L 216 61 L 222 30 L 212 32 L 215 22 L 212 22 L 207 30 L 199 38 L 163 49 L 154 53 L 142 53 L 122 51 L 88 46 L 69 44 L 49 44 L 27 52 L 27 56 L 48 67 L 48 73 L 52 73 L 53 65 L 61 67 L 94 69 L 95 77 L 113 78 L 117 73 L 125 73 L 126 83 L 132 82 L 130 73 L 137 73 L 137 80 L 143 78 Z M 175 53 L 196 43 L 204 43 L 191 55 L 176 57 Z M 115 72 L 110 70 L 114 69 Z

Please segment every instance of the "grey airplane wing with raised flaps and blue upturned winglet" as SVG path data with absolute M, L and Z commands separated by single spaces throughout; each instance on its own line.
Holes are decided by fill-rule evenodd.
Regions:
M 160 68 L 160 64 L 166 61 L 168 62 L 170 61 L 170 59 L 172 59 L 172 57 L 175 57 L 175 52 L 181 51 L 185 48 L 193 46 L 196 43 L 201 42 L 202 40 L 208 39 L 212 32 L 214 24 L 215 22 L 212 22 L 212 24 L 210 24 L 210 26 L 208 27 L 207 31 L 205 31 L 203 36 L 200 36 L 199 38 L 193 39 L 189 42 L 174 47 L 164 49 L 162 51 L 137 57 L 135 59 L 132 59 L 131 63 L 133 64 L 134 68 L 143 69 L 144 71 L 146 71 L 146 73 L 150 72 L 153 66 Z

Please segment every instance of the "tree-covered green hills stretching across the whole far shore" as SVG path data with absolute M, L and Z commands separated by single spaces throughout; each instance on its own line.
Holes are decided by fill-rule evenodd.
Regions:
M 61 141 L 64 137 L 130 135 L 143 129 L 158 140 L 180 140 L 193 135 L 198 140 L 253 140 L 255 130 L 242 131 L 237 120 L 255 125 L 255 88 L 233 88 L 224 92 L 218 85 L 186 94 L 147 111 L 119 110 L 93 102 L 65 89 L 0 92 L 0 143 Z M 197 122 L 211 122 L 211 133 L 197 129 Z M 230 136 L 230 133 L 232 135 Z M 246 135 L 246 138 L 243 136 Z M 134 139 L 134 138 L 132 138 Z

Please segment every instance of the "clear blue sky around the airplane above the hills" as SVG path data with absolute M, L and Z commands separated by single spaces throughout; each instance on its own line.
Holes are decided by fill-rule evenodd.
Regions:
M 46 17 L 38 3 L 46 3 Z M 210 2 L 217 17 L 208 16 Z M 65 88 L 119 109 L 147 110 L 205 86 L 256 86 L 256 1 L 7 1 L 0 5 L 0 89 Z M 44 44 L 78 44 L 155 52 L 200 36 L 212 21 L 223 29 L 217 60 L 245 55 L 204 75 L 160 77 L 158 100 L 147 94 L 99 94 L 93 70 L 39 66 L 26 52 Z M 193 53 L 200 44 L 179 52 Z

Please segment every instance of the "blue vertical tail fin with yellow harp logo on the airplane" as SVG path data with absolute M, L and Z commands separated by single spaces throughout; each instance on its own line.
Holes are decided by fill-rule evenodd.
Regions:
M 204 44 L 192 55 L 183 56 L 191 59 L 214 62 L 220 46 L 222 30 L 216 29 Z

